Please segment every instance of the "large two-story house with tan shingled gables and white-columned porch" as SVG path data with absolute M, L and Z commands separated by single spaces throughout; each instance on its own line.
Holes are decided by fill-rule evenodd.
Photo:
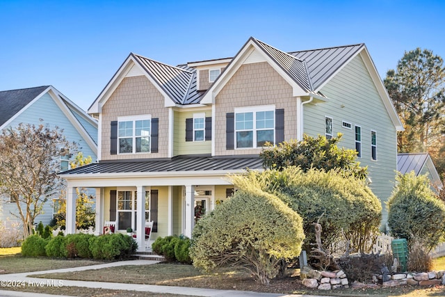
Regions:
M 97 230 L 133 227 L 140 249 L 145 220 L 152 239 L 191 236 L 234 191 L 227 174 L 262 169 L 266 141 L 341 132 L 385 202 L 403 129 L 364 44 L 286 53 L 255 38 L 233 58 L 177 67 L 130 54 L 88 113 L 99 118 L 99 163 L 61 175 L 67 230 L 75 188 L 95 187 Z

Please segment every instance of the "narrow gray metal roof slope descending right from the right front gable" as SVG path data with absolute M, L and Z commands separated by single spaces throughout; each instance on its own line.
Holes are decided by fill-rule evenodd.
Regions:
M 289 77 L 296 81 L 303 90 L 306 90 L 307 92 L 312 91 L 312 84 L 307 75 L 305 61 L 302 61 L 295 56 L 291 56 L 284 51 L 280 51 L 280 49 L 275 49 L 275 47 L 271 47 L 255 38 L 252 38 L 252 40 L 254 40 L 254 42 L 256 42 L 257 45 L 259 45 L 259 47 L 261 47 L 266 54 L 268 54 L 268 56 L 270 56 L 270 58 L 272 58 L 275 63 L 289 75 Z

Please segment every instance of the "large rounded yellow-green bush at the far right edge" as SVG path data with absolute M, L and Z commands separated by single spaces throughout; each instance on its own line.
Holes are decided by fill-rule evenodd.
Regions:
M 414 172 L 396 177 L 389 198 L 388 225 L 392 236 L 421 242 L 427 252 L 437 246 L 445 232 L 445 204 L 432 192 L 428 177 Z

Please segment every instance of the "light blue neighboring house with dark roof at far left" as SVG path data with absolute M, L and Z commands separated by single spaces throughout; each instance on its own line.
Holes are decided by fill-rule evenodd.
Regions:
M 17 127 L 19 123 L 49 125 L 51 129 L 57 126 L 63 129 L 68 141 L 78 143 L 83 156 L 97 159 L 97 120 L 53 86 L 0 91 L 0 130 Z M 70 169 L 66 156 L 54 157 L 60 158 L 60 171 Z M 20 221 L 11 214 L 17 214 L 17 205 L 9 195 L 3 195 L 0 203 L 0 220 L 7 227 Z M 37 216 L 34 223 L 42 221 L 46 225 L 52 218 L 53 202 L 49 200 L 44 204 L 43 214 Z

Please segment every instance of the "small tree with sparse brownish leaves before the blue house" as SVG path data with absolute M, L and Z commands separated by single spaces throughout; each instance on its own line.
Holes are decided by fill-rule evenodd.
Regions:
M 58 156 L 76 147 L 62 132 L 43 124 L 19 124 L 1 131 L 0 192 L 15 201 L 25 238 L 35 217 L 42 214 L 44 203 L 62 188 Z

